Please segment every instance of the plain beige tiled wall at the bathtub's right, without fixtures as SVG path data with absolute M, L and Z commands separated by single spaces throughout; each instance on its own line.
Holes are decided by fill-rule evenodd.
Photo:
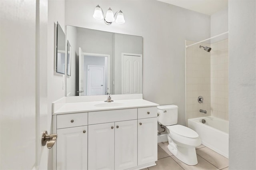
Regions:
M 211 47 L 211 115 L 228 120 L 228 39 Z

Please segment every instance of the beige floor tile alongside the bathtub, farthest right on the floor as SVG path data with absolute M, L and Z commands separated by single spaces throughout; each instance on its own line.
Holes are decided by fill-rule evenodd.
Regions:
M 196 153 L 219 169 L 228 167 L 228 158 L 207 147 L 197 149 Z

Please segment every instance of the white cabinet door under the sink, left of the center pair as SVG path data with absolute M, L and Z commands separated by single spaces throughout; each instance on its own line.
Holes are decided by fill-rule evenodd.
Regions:
M 88 169 L 114 170 L 114 123 L 88 126 Z

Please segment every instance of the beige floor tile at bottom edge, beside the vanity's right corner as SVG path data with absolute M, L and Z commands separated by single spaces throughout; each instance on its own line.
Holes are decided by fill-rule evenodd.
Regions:
M 170 156 L 156 161 L 156 166 L 148 167 L 149 170 L 183 170 Z

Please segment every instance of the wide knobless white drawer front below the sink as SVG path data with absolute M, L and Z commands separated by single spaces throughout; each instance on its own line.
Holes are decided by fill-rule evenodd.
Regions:
M 128 121 L 133 119 L 137 119 L 137 109 L 119 109 L 88 113 L 88 125 Z

